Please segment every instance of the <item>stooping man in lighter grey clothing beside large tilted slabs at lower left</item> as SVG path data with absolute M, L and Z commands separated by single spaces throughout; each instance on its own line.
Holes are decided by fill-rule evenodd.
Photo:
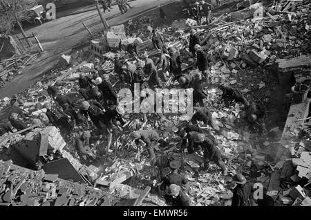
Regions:
M 80 158 L 84 159 L 84 161 L 92 162 L 95 160 L 96 156 L 89 147 L 90 138 L 90 131 L 83 131 L 83 134 L 75 140 L 75 149 L 77 149 L 77 154 Z

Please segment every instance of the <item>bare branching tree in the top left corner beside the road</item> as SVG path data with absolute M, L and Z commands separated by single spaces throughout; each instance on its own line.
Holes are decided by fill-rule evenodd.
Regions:
M 26 12 L 35 5 L 35 0 L 0 0 L 0 34 L 10 35 L 17 25 L 26 37 L 21 21 L 28 18 Z

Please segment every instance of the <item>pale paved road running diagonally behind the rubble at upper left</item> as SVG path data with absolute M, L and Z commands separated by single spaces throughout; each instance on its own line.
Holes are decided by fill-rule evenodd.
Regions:
M 162 6 L 176 1 L 177 0 L 131 1 L 130 4 L 133 6 L 133 9 L 130 9 L 123 15 L 117 6 L 113 6 L 111 12 L 106 12 L 104 17 L 106 17 L 109 26 L 115 26 L 123 24 L 133 17 L 138 17 L 149 10 L 154 10 L 158 5 Z M 41 75 L 44 75 L 46 71 L 49 71 L 55 66 L 60 55 L 66 53 L 66 50 L 77 46 L 85 37 L 88 37 L 88 32 L 82 25 L 82 22 L 84 22 L 91 31 L 102 28 L 102 22 L 100 21 L 97 10 L 91 10 L 77 15 L 61 17 L 54 21 L 48 21 L 41 26 L 26 30 L 26 34 L 28 35 L 31 33 L 37 35 L 45 51 L 37 62 L 24 70 L 23 75 L 16 77 L 12 82 L 6 83 L 6 86 L 0 89 L 0 99 L 11 97 L 27 89 L 30 84 L 33 84 Z

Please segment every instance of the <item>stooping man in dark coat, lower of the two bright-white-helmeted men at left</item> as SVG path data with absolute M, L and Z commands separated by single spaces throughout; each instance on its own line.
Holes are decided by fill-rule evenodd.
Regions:
M 95 127 L 102 131 L 102 125 L 100 122 L 104 122 L 104 107 L 100 102 L 96 100 L 88 100 L 81 103 L 80 112 L 84 115 L 88 121 L 92 121 Z

